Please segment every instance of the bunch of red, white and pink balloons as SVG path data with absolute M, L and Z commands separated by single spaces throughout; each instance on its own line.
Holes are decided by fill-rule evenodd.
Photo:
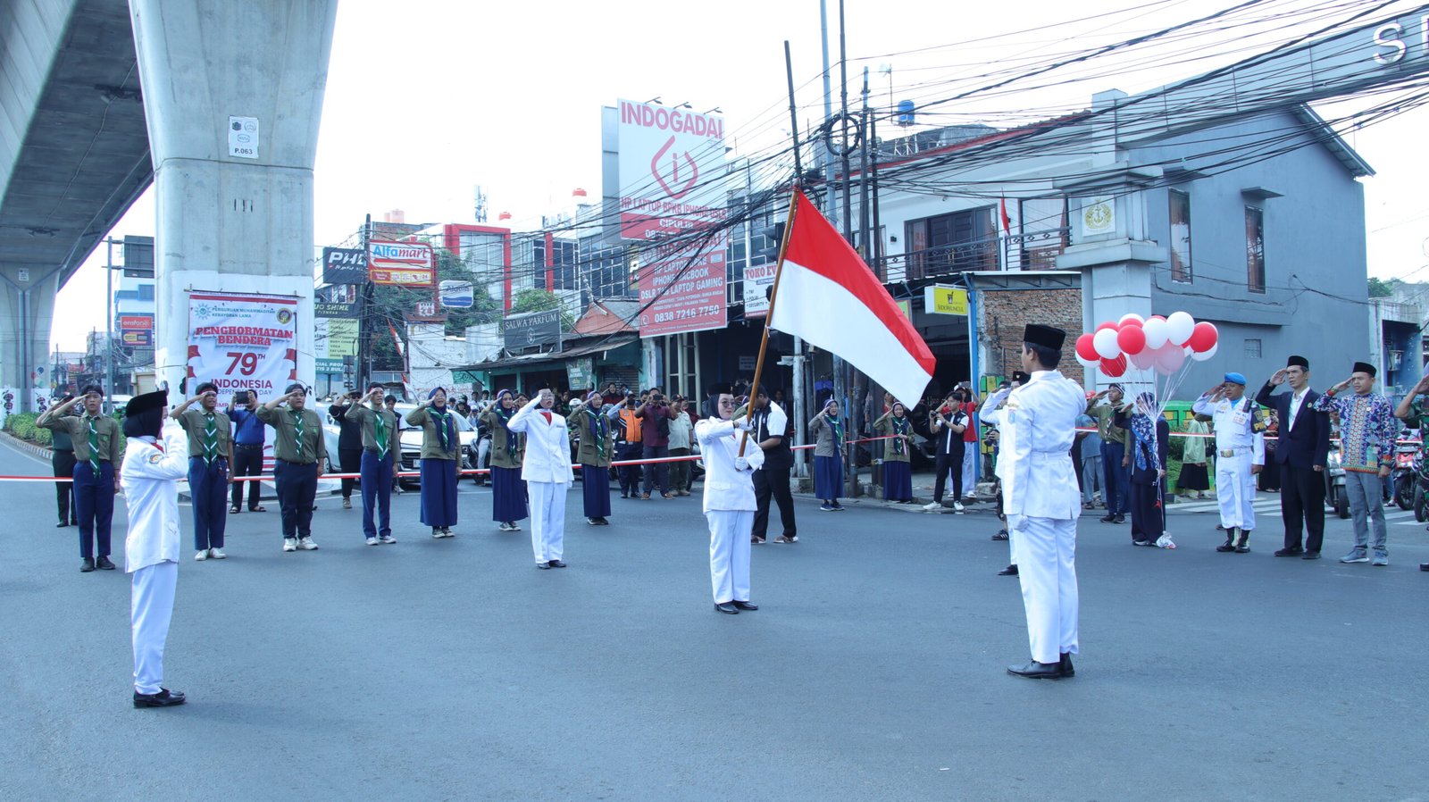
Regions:
M 1085 367 L 1100 367 L 1112 379 L 1126 373 L 1127 366 L 1170 376 L 1187 359 L 1205 362 L 1216 356 L 1219 339 L 1213 323 L 1198 323 L 1185 312 L 1172 312 L 1166 317 L 1152 315 L 1146 319 L 1129 313 L 1077 337 L 1076 360 Z

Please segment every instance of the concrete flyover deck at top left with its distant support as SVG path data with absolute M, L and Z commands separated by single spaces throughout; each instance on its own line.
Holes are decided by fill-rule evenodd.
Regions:
M 150 177 L 126 1 L 0 1 L 0 386 L 49 395 L 54 293 Z

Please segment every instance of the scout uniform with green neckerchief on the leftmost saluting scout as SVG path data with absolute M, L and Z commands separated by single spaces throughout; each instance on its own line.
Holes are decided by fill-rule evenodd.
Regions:
M 114 466 L 124 453 L 119 422 L 104 415 L 40 416 L 39 425 L 64 432 L 74 446 L 74 506 L 80 518 L 81 570 L 94 565 L 113 569 L 110 562 L 110 523 L 114 520 Z M 99 550 L 96 553 L 96 545 Z

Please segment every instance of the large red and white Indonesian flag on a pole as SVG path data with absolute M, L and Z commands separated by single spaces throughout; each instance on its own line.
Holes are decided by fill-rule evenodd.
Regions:
M 869 266 L 797 193 L 769 327 L 835 353 L 913 405 L 937 360 Z

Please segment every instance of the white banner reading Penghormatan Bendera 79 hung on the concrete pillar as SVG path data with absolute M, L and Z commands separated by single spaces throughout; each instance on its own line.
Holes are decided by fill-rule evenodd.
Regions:
M 219 395 L 282 395 L 297 380 L 297 299 L 266 294 L 189 293 L 189 379 L 213 382 Z M 191 387 L 190 387 L 191 389 Z

